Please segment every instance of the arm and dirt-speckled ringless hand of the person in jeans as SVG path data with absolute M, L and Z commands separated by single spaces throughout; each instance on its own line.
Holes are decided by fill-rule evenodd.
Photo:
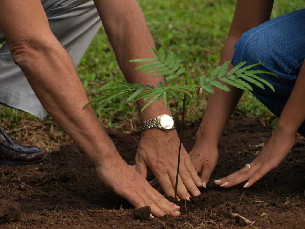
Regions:
M 232 59 L 234 45 L 242 36 L 242 33 L 270 19 L 272 6 L 273 0 L 237 1 L 234 18 L 222 51 L 220 64 Z M 232 64 L 230 65 L 230 68 L 232 68 Z M 203 120 L 196 134 L 196 144 L 190 153 L 192 162 L 197 172 L 201 173 L 201 180 L 203 182 L 207 182 L 210 179 L 210 175 L 216 166 L 218 140 L 242 96 L 243 91 L 241 89 L 231 85 L 227 86 L 230 88 L 230 92 L 215 88 L 215 93 L 210 95 Z M 198 154 L 205 154 L 205 157 L 198 157 Z

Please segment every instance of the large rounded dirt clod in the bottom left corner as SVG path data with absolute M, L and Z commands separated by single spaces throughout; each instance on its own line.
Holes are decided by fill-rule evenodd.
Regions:
M 20 218 L 20 204 L 0 199 L 0 224 L 11 223 Z

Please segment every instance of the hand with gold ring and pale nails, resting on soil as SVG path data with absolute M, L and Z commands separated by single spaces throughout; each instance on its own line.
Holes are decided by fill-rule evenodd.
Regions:
M 215 184 L 228 188 L 247 181 L 244 188 L 251 187 L 282 162 L 292 149 L 296 140 L 295 136 L 295 133 L 289 133 L 276 128 L 266 146 L 260 151 L 257 158 L 250 163 L 250 169 L 243 167 L 229 176 L 215 180 Z

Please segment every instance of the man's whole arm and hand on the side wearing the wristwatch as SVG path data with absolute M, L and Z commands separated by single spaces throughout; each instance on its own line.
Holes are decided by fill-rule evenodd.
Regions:
M 155 86 L 160 81 L 164 83 L 163 77 L 154 78 L 152 75 L 135 72 L 133 69 L 138 65 L 128 62 L 131 59 L 154 57 L 149 47 L 155 48 L 155 44 L 138 2 L 95 0 L 95 5 L 127 81 Z M 170 114 L 170 109 L 165 107 L 163 100 L 154 102 L 141 113 L 145 104 L 143 100 L 137 103 L 141 121 Z M 147 129 L 142 133 L 136 156 L 137 171 L 146 178 L 148 166 L 168 196 L 174 196 L 178 147 L 179 138 L 176 130 L 165 133 L 157 128 Z M 187 190 L 197 196 L 200 191 L 196 186 L 202 187 L 202 183 L 184 147 L 182 151 L 178 195 L 183 199 L 189 199 Z

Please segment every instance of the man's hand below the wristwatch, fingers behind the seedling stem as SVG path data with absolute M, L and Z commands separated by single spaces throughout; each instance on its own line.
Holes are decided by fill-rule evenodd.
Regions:
M 178 149 L 179 138 L 176 130 L 166 133 L 156 128 L 149 129 L 142 132 L 135 158 L 137 171 L 146 178 L 148 166 L 164 193 L 172 197 L 175 194 Z M 193 196 L 200 194 L 197 187 L 202 187 L 202 182 L 182 146 L 177 194 L 181 199 L 189 200 L 191 196 L 188 192 Z

